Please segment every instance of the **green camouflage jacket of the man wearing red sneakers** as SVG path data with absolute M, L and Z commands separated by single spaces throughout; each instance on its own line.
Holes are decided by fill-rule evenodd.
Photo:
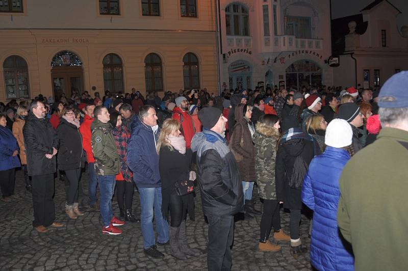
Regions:
M 97 175 L 116 175 L 119 173 L 119 154 L 111 132 L 112 125 L 94 119 L 91 124 L 92 152 L 95 157 Z

